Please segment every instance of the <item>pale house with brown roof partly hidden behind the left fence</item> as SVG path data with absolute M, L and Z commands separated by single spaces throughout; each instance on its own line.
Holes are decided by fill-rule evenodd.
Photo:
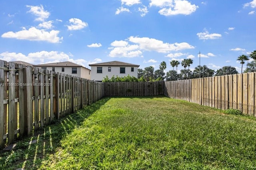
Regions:
M 49 71 L 55 71 L 56 73 L 63 73 L 66 75 L 73 75 L 76 77 L 81 77 L 84 79 L 91 79 L 91 70 L 83 67 L 82 65 L 78 65 L 76 63 L 72 63 L 70 61 L 59 62 L 59 63 L 48 63 L 48 64 L 38 64 L 33 65 L 34 67 L 38 67 L 40 69 L 47 69 Z

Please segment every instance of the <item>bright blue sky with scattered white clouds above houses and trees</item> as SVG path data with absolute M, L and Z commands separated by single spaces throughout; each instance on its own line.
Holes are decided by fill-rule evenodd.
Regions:
M 0 59 L 32 64 L 193 59 L 241 65 L 256 50 L 256 0 L 0 0 Z M 183 69 L 180 65 L 178 72 Z

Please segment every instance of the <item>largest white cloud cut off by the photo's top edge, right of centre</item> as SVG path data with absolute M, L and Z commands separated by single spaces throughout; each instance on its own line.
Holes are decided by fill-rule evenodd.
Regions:
M 150 6 L 157 6 L 162 8 L 158 11 L 159 14 L 164 16 L 171 15 L 190 15 L 196 11 L 198 6 L 191 4 L 187 0 L 150 0 Z

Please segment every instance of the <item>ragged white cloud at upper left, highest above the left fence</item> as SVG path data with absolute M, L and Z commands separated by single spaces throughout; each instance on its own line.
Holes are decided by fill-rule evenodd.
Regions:
M 45 21 L 50 16 L 50 12 L 45 11 L 44 7 L 42 5 L 40 5 L 40 6 L 27 5 L 26 7 L 30 8 L 30 10 L 28 12 L 30 12 L 38 17 L 38 18 L 36 18 L 36 21 Z

